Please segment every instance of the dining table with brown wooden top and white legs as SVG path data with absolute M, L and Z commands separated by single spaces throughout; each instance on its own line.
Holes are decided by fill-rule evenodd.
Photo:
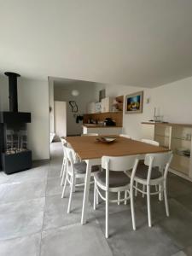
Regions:
M 101 137 L 101 136 L 100 136 Z M 101 165 L 102 156 L 123 156 L 123 155 L 137 155 L 149 153 L 163 153 L 168 151 L 168 148 L 154 146 L 148 143 L 142 143 L 137 140 L 110 136 L 116 139 L 112 143 L 99 143 L 97 136 L 84 137 L 66 137 L 67 143 L 70 143 L 80 160 L 85 160 L 86 175 L 84 180 L 84 200 L 81 215 L 81 224 L 85 224 L 87 220 L 87 206 L 90 192 L 90 172 L 91 167 Z

